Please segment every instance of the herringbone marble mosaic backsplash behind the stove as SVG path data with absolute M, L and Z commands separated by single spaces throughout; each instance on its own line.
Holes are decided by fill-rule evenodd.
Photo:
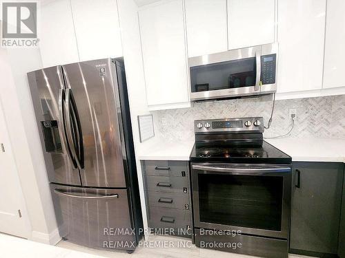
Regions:
M 268 98 L 193 103 L 186 109 L 152 111 L 156 136 L 170 141 L 194 140 L 194 120 L 263 116 L 267 125 L 272 108 Z M 345 138 L 345 95 L 276 100 L 273 122 L 264 137 L 284 135 L 292 126 L 290 108 L 297 109 L 295 127 L 286 137 Z

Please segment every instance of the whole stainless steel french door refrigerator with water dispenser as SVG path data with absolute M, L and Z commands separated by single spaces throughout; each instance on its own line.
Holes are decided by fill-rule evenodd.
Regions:
M 135 250 L 143 235 L 122 58 L 28 73 L 59 233 Z

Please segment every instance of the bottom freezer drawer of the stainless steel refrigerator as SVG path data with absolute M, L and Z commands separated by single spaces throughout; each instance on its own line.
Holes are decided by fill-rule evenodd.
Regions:
M 59 233 L 90 248 L 134 250 L 126 189 L 96 189 L 50 184 Z

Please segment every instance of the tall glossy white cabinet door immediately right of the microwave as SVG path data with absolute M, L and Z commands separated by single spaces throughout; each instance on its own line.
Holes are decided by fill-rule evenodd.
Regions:
M 277 92 L 322 88 L 326 0 L 279 0 Z

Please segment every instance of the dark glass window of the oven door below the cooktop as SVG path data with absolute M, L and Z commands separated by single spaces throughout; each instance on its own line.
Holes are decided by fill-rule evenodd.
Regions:
M 200 222 L 280 231 L 283 177 L 199 174 Z

